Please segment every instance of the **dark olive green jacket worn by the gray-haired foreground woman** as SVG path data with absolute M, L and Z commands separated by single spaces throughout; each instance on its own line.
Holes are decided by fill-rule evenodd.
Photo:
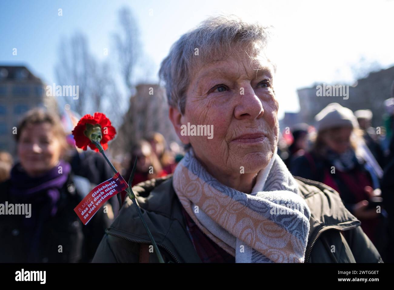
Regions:
M 315 181 L 297 178 L 297 182 L 311 212 L 305 262 L 383 262 L 338 193 Z M 188 236 L 172 177 L 139 183 L 133 191 L 165 262 L 201 263 Z M 156 254 L 147 254 L 149 244 L 138 213 L 127 198 L 119 216 L 106 230 L 93 262 L 134 263 L 142 256 L 158 262 Z

